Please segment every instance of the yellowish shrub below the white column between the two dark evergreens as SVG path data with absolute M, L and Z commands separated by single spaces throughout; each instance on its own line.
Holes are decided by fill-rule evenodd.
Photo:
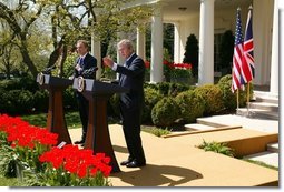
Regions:
M 205 115 L 214 114 L 223 110 L 224 105 L 219 87 L 214 84 L 205 84 L 196 88 L 194 91 L 204 98 Z

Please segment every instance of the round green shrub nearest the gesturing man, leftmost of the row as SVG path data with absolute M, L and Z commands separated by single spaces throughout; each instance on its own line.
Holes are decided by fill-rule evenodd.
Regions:
M 173 98 L 163 98 L 151 110 L 153 123 L 157 127 L 169 127 L 178 118 L 179 109 Z

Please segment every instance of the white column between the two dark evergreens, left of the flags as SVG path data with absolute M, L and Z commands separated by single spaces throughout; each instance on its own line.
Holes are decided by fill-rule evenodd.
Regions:
M 200 0 L 198 85 L 214 83 L 214 1 Z

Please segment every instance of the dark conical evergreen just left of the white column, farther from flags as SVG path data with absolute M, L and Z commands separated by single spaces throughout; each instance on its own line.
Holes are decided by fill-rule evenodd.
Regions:
M 190 63 L 193 65 L 193 75 L 198 75 L 198 40 L 195 34 L 187 37 L 185 46 L 184 63 Z

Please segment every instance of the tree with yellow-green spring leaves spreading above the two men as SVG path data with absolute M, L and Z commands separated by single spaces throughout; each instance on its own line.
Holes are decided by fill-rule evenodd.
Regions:
M 8 23 L 12 30 L 11 40 L 17 43 L 23 63 L 36 78 L 38 69 L 32 61 L 28 42 L 30 34 L 35 32 L 31 27 L 37 20 L 45 18 L 45 24 L 41 26 L 51 34 L 53 42 L 48 67 L 57 62 L 61 50 L 63 50 L 61 62 L 63 62 L 67 57 L 67 46 L 75 44 L 79 38 L 89 40 L 91 32 L 96 39 L 109 42 L 116 39 L 118 31 L 136 29 L 138 21 L 146 20 L 151 14 L 151 8 L 127 8 L 130 1 L 21 0 L 12 1 L 14 2 L 12 4 L 6 1 L 0 2 L 0 21 Z

